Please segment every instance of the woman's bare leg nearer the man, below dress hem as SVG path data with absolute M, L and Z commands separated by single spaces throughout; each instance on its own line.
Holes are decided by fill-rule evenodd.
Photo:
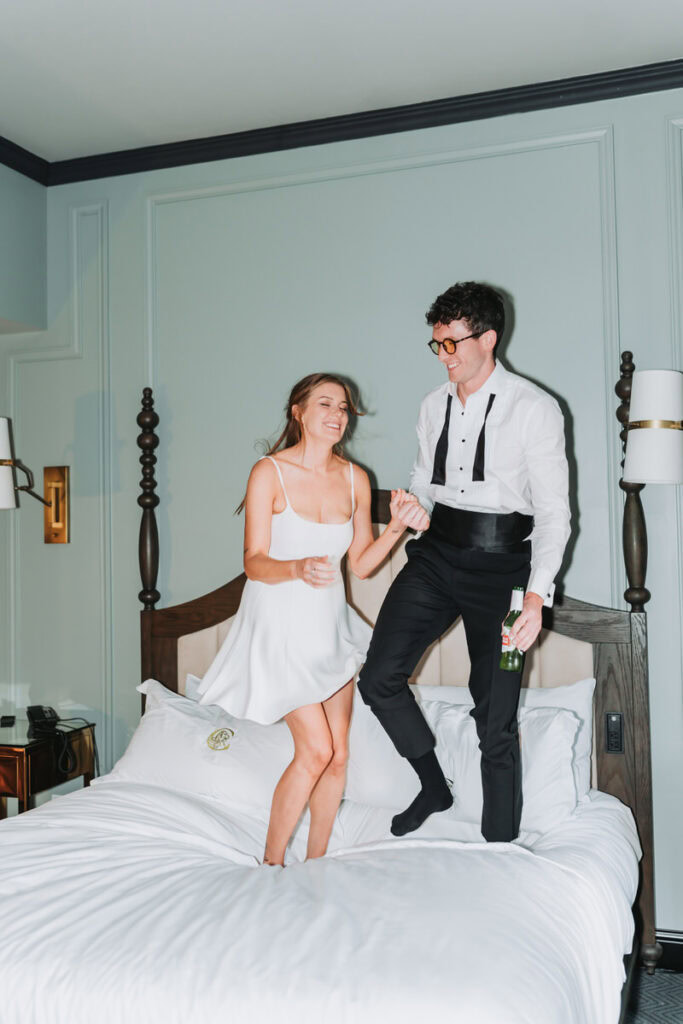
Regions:
M 309 859 L 324 856 L 344 791 L 348 727 L 353 709 L 353 680 L 324 700 L 323 709 L 332 733 L 333 754 L 309 799 L 310 829 L 306 850 L 306 857 Z

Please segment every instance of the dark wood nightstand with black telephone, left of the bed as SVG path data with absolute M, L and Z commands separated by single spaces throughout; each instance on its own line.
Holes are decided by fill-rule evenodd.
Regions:
M 58 765 L 62 733 L 30 739 L 28 728 L 28 722 L 0 728 L 0 818 L 7 814 L 7 797 L 16 797 L 20 813 L 33 806 L 37 793 L 81 775 L 83 784 L 90 785 L 94 776 L 94 724 L 77 726 L 67 734 L 76 759 L 70 772 L 61 771 Z

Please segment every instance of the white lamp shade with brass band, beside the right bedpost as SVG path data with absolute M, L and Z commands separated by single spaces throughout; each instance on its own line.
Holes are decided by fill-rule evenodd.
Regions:
M 624 479 L 630 483 L 683 483 L 683 373 L 637 370 L 633 375 Z M 647 426 L 646 424 L 652 424 Z

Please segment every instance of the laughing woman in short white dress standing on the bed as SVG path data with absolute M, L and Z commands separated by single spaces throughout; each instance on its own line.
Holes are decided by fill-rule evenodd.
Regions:
M 244 506 L 247 583 L 238 614 L 200 688 L 201 702 L 269 724 L 285 718 L 294 758 L 272 798 L 264 862 L 283 864 L 306 802 L 307 857 L 322 857 L 339 808 L 353 677 L 370 627 L 346 603 L 345 553 L 364 579 L 405 529 L 392 492 L 391 521 L 373 540 L 370 480 L 342 455 L 348 386 L 331 374 L 295 384 L 287 425 L 251 471 Z M 403 516 L 410 522 L 409 510 Z

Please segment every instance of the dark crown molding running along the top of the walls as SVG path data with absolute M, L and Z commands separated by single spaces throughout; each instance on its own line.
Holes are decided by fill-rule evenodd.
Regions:
M 424 103 L 322 118 L 317 121 L 300 121 L 274 128 L 256 128 L 231 135 L 214 135 L 186 142 L 59 160 L 52 164 L 0 138 L 0 162 L 42 184 L 60 185 L 681 87 L 683 60 L 668 60 L 555 82 L 477 92 L 453 99 L 434 99 Z

